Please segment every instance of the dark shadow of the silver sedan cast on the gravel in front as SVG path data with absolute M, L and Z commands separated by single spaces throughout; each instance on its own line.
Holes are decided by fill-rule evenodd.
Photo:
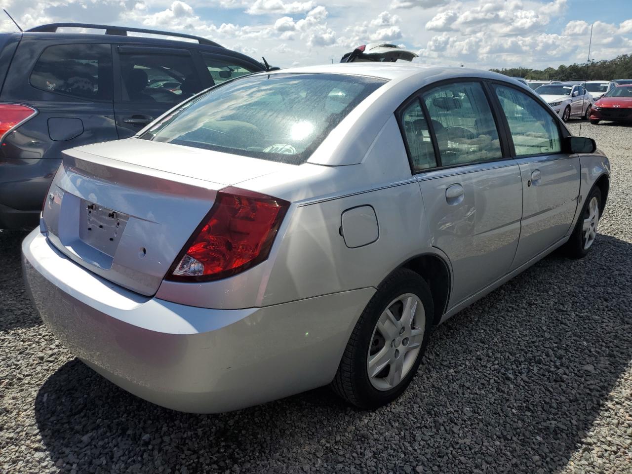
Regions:
M 374 412 L 317 389 L 178 413 L 73 360 L 40 388 L 37 425 L 62 471 L 554 473 L 632 360 L 631 284 L 630 243 L 554 253 L 438 327 L 408 391 Z

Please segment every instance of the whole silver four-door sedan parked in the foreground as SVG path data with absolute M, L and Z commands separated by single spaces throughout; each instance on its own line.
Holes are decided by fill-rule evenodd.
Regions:
M 258 73 L 64 153 L 22 245 L 35 307 L 153 403 L 235 410 L 331 384 L 401 394 L 432 327 L 595 240 L 609 162 L 506 76 Z

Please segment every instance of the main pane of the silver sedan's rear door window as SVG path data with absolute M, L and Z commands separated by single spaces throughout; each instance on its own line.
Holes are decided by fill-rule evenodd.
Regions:
M 502 158 L 492 110 L 478 82 L 456 82 L 423 94 L 439 145 L 441 166 Z

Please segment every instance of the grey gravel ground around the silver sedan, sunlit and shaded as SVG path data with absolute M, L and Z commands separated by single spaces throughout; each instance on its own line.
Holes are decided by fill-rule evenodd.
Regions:
M 24 234 L 0 232 L 0 471 L 631 473 L 632 133 L 582 128 L 614 173 L 592 253 L 550 255 L 439 327 L 373 413 L 327 389 L 222 415 L 135 398 L 55 341 Z

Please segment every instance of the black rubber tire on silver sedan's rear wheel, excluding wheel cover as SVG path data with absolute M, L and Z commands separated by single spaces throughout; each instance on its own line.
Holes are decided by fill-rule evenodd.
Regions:
M 425 326 L 423 333 L 422 346 L 413 367 L 410 372 L 399 382 L 398 386 L 381 391 L 376 389 L 370 382 L 367 371 L 367 355 L 368 348 L 373 336 L 375 325 L 382 315 L 382 312 L 387 308 L 387 305 L 391 301 L 398 298 L 398 296 L 406 293 L 412 293 L 416 295 L 423 304 L 425 313 Z M 432 296 L 430 295 L 430 289 L 428 285 L 418 274 L 412 270 L 398 270 L 398 274 L 394 278 L 389 279 L 386 285 L 380 288 L 373 296 L 365 312 L 362 313 L 362 317 L 358 321 L 358 324 L 362 326 L 360 329 L 359 342 L 354 348 L 353 353 L 353 374 L 355 374 L 356 398 L 360 404 L 365 408 L 375 408 L 389 403 L 398 398 L 406 387 L 410 384 L 411 380 L 415 376 L 417 369 L 422 362 L 423 353 L 425 352 L 426 345 L 428 343 L 428 337 L 432 331 L 432 315 L 434 313 L 434 305 L 432 302 Z

